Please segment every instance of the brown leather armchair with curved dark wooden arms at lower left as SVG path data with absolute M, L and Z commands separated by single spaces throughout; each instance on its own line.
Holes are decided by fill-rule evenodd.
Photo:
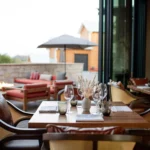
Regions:
M 46 129 L 16 127 L 29 119 L 32 114 L 19 111 L 7 102 L 5 99 L 0 99 L 0 150 L 40 150 L 42 134 Z

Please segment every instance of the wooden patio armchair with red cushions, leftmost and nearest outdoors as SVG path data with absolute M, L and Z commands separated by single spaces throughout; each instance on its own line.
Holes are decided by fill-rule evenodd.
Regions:
M 23 110 L 27 109 L 29 101 L 50 99 L 50 88 L 47 84 L 25 84 L 23 89 L 7 90 L 4 94 L 7 100 L 17 100 L 23 102 Z

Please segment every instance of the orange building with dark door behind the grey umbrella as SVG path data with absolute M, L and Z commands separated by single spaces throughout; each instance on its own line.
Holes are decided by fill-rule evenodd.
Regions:
M 81 38 L 98 44 L 98 22 L 84 22 L 79 30 Z M 63 62 L 63 49 L 57 49 L 57 62 Z M 63 57 L 63 58 L 62 58 Z M 98 71 L 98 46 L 86 49 L 66 49 L 67 63 L 84 63 L 84 71 Z

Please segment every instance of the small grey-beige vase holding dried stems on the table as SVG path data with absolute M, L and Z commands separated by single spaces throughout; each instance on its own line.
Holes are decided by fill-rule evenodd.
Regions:
M 82 108 L 83 108 L 83 114 L 89 114 L 90 108 L 91 108 L 91 100 L 89 98 L 83 98 L 82 100 Z

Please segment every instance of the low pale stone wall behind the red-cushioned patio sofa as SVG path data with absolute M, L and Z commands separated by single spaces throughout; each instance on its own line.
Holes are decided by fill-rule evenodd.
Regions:
M 29 78 L 32 71 L 56 75 L 65 71 L 64 63 L 27 63 L 27 64 L 1 64 L 0 81 L 13 83 L 15 77 Z M 77 81 L 78 75 L 83 71 L 83 63 L 67 63 L 66 76 L 68 79 Z

